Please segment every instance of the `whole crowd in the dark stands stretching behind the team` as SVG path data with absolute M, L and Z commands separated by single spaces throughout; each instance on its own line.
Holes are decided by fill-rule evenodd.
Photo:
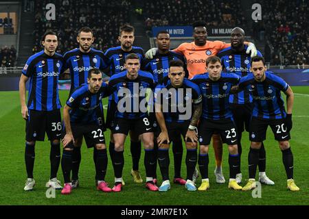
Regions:
M 244 18 L 240 0 L 168 0 L 139 2 L 133 9 L 133 1 L 56 0 L 56 21 L 46 21 L 47 0 L 34 1 L 36 5 L 33 52 L 41 50 L 41 36 L 47 29 L 59 35 L 59 53 L 78 46 L 78 29 L 90 26 L 95 32 L 95 49 L 105 51 L 115 47 L 120 25 L 128 23 L 129 14 L 137 14 L 146 21 L 148 32 L 154 26 L 192 25 L 194 21 L 206 21 L 207 26 L 244 27 L 253 39 L 266 45 L 264 55 L 271 65 L 303 65 L 309 63 L 308 3 L 305 0 L 260 0 L 262 21 Z M 251 27 L 252 28 L 249 28 Z

